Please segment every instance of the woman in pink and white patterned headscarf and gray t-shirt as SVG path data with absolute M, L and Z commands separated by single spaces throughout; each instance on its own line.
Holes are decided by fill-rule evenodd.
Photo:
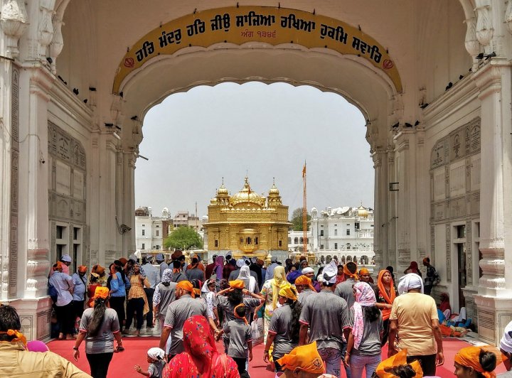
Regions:
M 353 286 L 356 302 L 350 309 L 350 325 L 345 362 L 352 378 L 361 378 L 366 369 L 370 378 L 380 364 L 380 335 L 383 333 L 382 314 L 375 306 L 375 292 L 366 282 Z

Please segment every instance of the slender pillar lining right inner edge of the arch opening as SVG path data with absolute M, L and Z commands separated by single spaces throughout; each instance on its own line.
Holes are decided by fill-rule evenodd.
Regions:
M 389 264 L 388 257 L 388 152 L 375 151 L 372 155 L 375 169 L 375 217 L 373 222 L 373 251 L 375 252 L 374 274 Z

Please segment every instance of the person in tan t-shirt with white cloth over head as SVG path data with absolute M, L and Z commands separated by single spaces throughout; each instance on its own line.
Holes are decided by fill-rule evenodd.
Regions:
M 402 276 L 398 284 L 400 296 L 393 301 L 390 314 L 388 356 L 407 349 L 407 362 L 419 360 L 425 375 L 435 375 L 436 366 L 444 363 L 437 306 L 423 292 L 423 280 L 415 273 Z

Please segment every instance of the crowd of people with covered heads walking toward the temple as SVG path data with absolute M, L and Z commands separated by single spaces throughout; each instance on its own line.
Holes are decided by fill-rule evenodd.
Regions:
M 444 363 L 439 315 L 452 314 L 447 296 L 437 306 L 427 295 L 428 286 L 439 281 L 428 258 L 423 261 L 425 279 L 412 261 L 398 281 L 391 266 L 373 281 L 354 262 L 331 261 L 315 275 L 304 258 L 295 264 L 287 259 L 284 265 L 272 259 L 267 268 L 260 259 L 235 260 L 229 254 L 214 256 L 206 266 L 197 255 L 186 264 L 180 251 L 169 264 L 163 254 L 153 259 L 148 255 L 139 264 L 132 255 L 108 269 L 78 266 L 71 275 L 68 255 L 53 265 L 48 284 L 58 338 L 75 340 L 75 360 L 85 342 L 92 377 L 107 377 L 114 352 L 124 350 L 122 334 L 138 336 L 144 323 L 146 329 L 157 325 L 161 331 L 158 347 L 147 351 L 148 366 L 134 366 L 146 377 L 249 377 L 253 358 L 262 358 L 282 377 L 341 377 L 342 370 L 349 378 L 435 377 L 436 367 Z M 251 325 L 258 321 L 262 357 L 252 352 L 260 330 Z M 61 370 L 55 376 L 89 377 L 51 352 L 41 357 L 44 362 L 23 354 L 29 349 L 20 328 L 14 308 L 1 306 L 0 350 L 9 350 L 16 361 L 26 356 L 32 364 L 48 363 L 48 369 Z M 223 341 L 220 353 L 216 340 Z M 382 361 L 386 343 L 388 359 Z M 0 373 L 17 377 L 2 356 L 7 355 L 0 355 Z M 464 348 L 455 357 L 454 374 L 494 377 L 501 361 L 511 368 L 511 357 L 512 322 L 501 353 Z

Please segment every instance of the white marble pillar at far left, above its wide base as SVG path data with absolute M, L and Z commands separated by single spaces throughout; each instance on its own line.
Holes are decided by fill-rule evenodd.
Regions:
M 48 101 L 46 69 L 21 72 L 18 298 L 46 296 L 48 279 Z M 23 267 L 23 268 L 22 268 Z

